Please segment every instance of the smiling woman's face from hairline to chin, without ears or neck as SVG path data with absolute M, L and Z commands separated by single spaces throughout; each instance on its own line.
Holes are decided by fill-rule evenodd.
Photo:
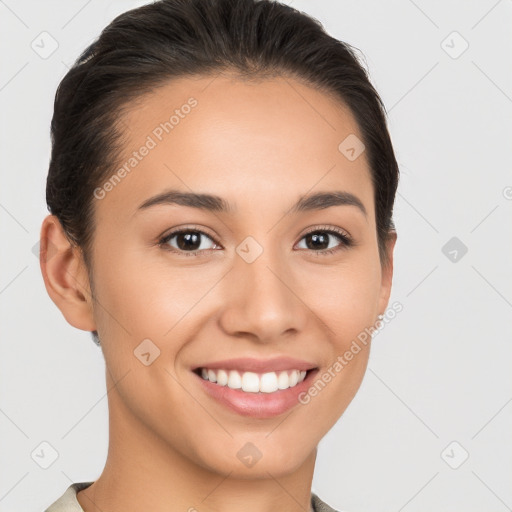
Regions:
M 108 387 L 119 381 L 111 425 L 223 474 L 293 471 L 359 388 L 369 344 L 333 368 L 389 298 L 358 126 L 291 79 L 227 76 L 170 83 L 123 121 L 125 171 L 94 198 L 92 314 Z M 306 201 L 320 193 L 338 199 Z M 256 366 L 227 361 L 241 358 Z M 231 370 L 270 374 L 242 376 L 268 391 L 294 383 L 283 371 L 315 370 L 255 393 L 201 368 L 229 370 L 206 372 L 233 386 Z

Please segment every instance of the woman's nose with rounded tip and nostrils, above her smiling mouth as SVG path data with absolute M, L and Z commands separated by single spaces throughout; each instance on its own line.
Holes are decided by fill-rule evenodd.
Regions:
M 237 257 L 223 282 L 222 329 L 261 343 L 297 335 L 311 315 L 303 288 L 284 261 L 263 254 L 252 263 Z

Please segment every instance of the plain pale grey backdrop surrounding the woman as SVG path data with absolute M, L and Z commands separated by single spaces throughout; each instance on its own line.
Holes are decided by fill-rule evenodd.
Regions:
M 0 1 L 1 512 L 42 512 L 105 462 L 103 358 L 47 296 L 34 246 L 56 87 L 142 3 Z M 320 443 L 313 490 L 351 512 L 512 510 L 512 1 L 286 3 L 364 53 L 401 169 L 404 309 Z

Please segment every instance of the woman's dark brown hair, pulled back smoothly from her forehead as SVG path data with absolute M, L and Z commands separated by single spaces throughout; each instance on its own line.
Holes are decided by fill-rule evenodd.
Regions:
M 123 149 L 122 113 L 173 78 L 222 71 L 244 80 L 289 76 L 349 107 L 366 147 L 379 254 L 387 264 L 399 170 L 384 105 L 356 49 L 276 1 L 160 0 L 116 17 L 55 95 L 46 202 L 87 268 L 93 263 L 93 191 L 113 174 Z

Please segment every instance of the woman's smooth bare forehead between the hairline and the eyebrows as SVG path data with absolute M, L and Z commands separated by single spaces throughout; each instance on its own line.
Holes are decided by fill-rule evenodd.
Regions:
M 341 101 L 291 78 L 180 78 L 130 105 L 122 126 L 119 166 L 130 159 L 133 165 L 110 194 L 118 199 L 139 204 L 179 188 L 225 197 L 238 209 L 242 199 L 258 207 L 262 198 L 269 205 L 336 189 L 357 194 L 372 211 L 366 153 L 344 153 L 362 139 L 354 116 Z

